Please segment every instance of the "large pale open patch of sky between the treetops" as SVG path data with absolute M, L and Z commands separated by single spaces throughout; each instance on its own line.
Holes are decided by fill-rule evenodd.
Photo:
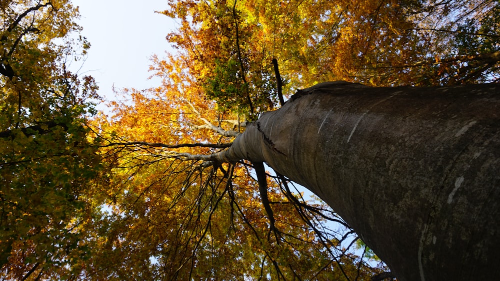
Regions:
M 90 42 L 80 75 L 91 75 L 99 94 L 114 99 L 112 87 L 145 89 L 159 85 L 148 80 L 150 57 L 164 57 L 173 51 L 165 36 L 174 30 L 174 21 L 155 13 L 167 7 L 165 0 L 73 0 L 81 18 L 77 23 Z M 78 65 L 79 67 L 79 65 Z M 102 110 L 103 105 L 98 109 Z

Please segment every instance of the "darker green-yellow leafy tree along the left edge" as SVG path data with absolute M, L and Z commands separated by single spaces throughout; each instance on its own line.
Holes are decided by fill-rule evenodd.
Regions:
M 67 1 L 0 1 L 2 279 L 67 278 L 98 219 L 99 157 L 84 125 L 97 87 L 67 70 L 73 46 L 88 47 L 76 16 Z

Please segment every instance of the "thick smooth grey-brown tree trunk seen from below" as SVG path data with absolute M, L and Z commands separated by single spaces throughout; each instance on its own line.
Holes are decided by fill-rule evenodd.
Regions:
M 322 198 L 401 281 L 500 276 L 500 85 L 321 83 L 221 155 Z

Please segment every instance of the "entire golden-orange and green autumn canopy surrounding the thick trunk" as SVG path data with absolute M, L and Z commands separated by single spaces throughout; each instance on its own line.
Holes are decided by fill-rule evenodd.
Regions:
M 496 0 L 170 0 L 159 12 L 178 23 L 166 38 L 176 52 L 151 65 L 161 84 L 123 89 L 94 116 L 93 79 L 68 71 L 89 47 L 77 8 L 0 8 L 7 280 L 390 278 L 322 201 L 261 163 L 211 155 L 281 91 L 499 77 Z

